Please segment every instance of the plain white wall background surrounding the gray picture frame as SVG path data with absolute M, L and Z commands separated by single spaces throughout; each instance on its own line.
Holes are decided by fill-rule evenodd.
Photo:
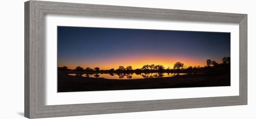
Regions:
M 117 113 L 54 119 L 256 119 L 256 12 L 254 0 L 51 0 L 248 14 L 248 105 L 168 111 Z M 24 2 L 3 0 L 0 6 L 0 119 L 25 119 Z

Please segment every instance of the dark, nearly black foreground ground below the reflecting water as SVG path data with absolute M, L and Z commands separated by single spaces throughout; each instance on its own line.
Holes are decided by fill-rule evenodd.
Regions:
M 68 73 L 58 71 L 58 92 L 230 86 L 230 73 L 224 72 L 132 80 L 77 77 Z

